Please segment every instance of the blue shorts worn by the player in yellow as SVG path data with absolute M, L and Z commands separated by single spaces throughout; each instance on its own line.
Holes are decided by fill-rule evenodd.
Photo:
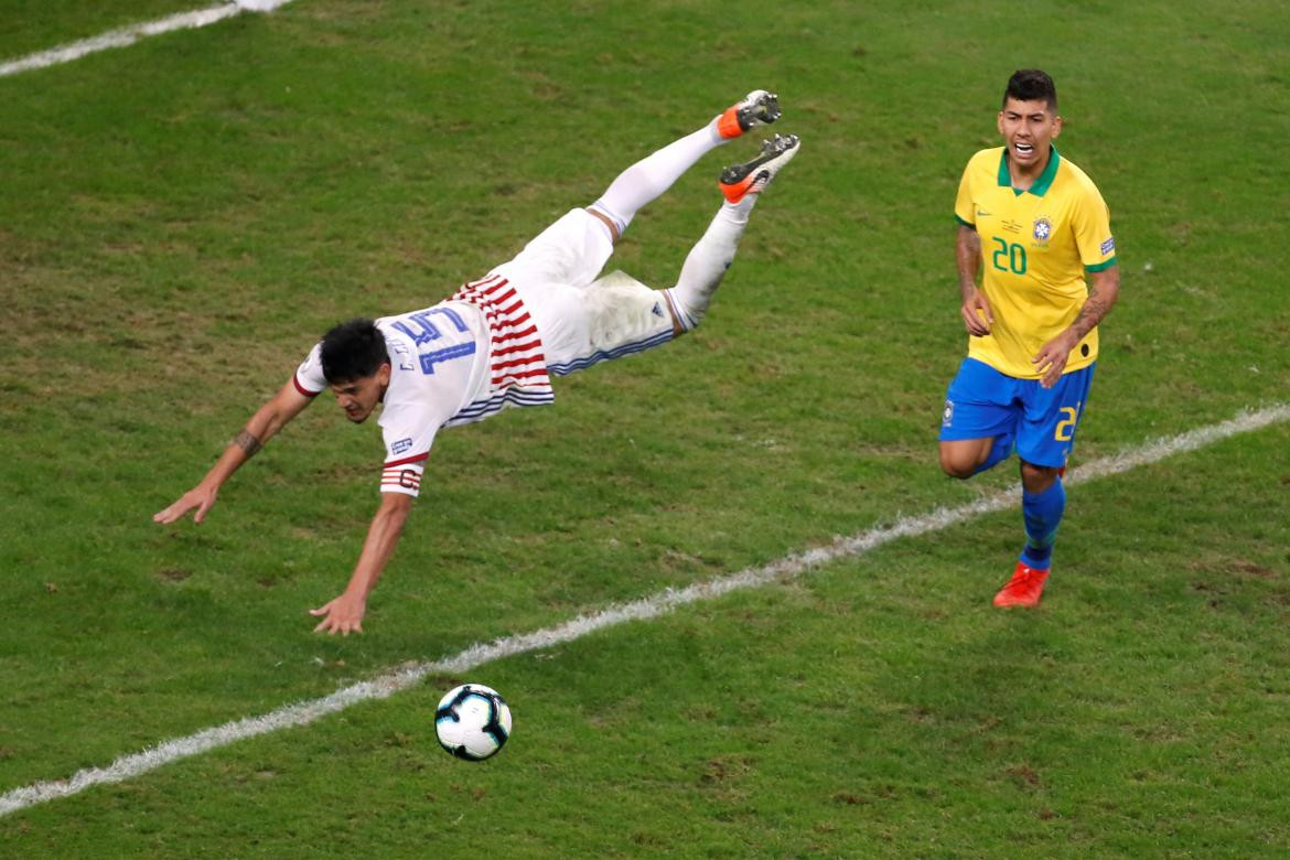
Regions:
M 1018 379 L 983 361 L 964 358 L 946 392 L 940 441 L 1011 437 L 1027 463 L 1066 465 L 1095 366 L 1072 370 L 1044 388 L 1038 379 Z

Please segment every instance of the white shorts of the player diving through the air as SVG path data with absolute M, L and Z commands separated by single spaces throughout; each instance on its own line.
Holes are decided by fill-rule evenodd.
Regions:
M 586 209 L 571 209 L 490 272 L 520 294 L 550 373 L 562 376 L 672 339 L 663 293 L 622 272 L 596 280 L 613 253 L 609 227 Z

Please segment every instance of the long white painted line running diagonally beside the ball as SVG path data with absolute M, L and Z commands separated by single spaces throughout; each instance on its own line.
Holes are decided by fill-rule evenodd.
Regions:
M 1139 465 L 1158 463 L 1175 454 L 1195 451 L 1228 437 L 1249 433 L 1285 420 L 1290 420 L 1290 404 L 1276 404 L 1256 411 L 1246 411 L 1232 420 L 1201 427 L 1173 438 L 1151 442 L 1124 454 L 1093 460 L 1072 469 L 1066 481 L 1068 484 L 1085 484 L 1107 476 L 1120 474 Z M 592 615 L 579 615 L 564 624 L 533 633 L 508 636 L 488 645 L 472 645 L 464 651 L 435 663 L 409 663 L 372 681 L 362 681 L 343 690 L 337 690 L 321 699 L 285 705 L 259 717 L 235 719 L 222 726 L 188 735 L 187 738 L 168 740 L 142 753 L 123 756 L 108 767 L 90 767 L 79 771 L 67 780 L 36 783 L 26 788 L 15 788 L 0 796 L 0 816 L 28 806 L 77 794 L 93 785 L 121 783 L 173 761 L 197 756 L 219 747 L 227 747 L 248 738 L 267 735 L 294 726 L 304 726 L 320 717 L 344 710 L 351 705 L 374 699 L 386 699 L 401 690 L 415 686 L 428 674 L 463 674 L 493 660 L 571 642 L 588 633 L 614 627 L 623 621 L 658 618 L 677 606 L 713 600 L 737 589 L 759 588 L 775 580 L 791 580 L 811 569 L 832 561 L 863 556 L 871 549 L 900 538 L 925 535 L 987 513 L 1006 511 L 1007 508 L 1017 507 L 1019 495 L 1018 490 L 1013 487 L 957 508 L 939 508 L 922 516 L 904 517 L 891 526 L 869 529 L 851 538 L 838 538 L 828 547 L 817 547 L 793 553 L 762 567 L 749 567 L 730 576 L 697 583 L 681 589 L 658 592 L 631 603 L 610 606 Z

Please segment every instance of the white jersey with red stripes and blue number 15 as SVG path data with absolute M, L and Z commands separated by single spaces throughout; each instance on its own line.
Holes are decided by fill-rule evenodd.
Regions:
M 375 322 L 391 367 L 378 420 L 386 442 L 382 493 L 421 493 L 440 427 L 555 400 L 542 338 L 503 277 L 466 284 L 433 307 Z M 316 344 L 295 371 L 295 388 L 310 397 L 328 387 L 320 351 Z

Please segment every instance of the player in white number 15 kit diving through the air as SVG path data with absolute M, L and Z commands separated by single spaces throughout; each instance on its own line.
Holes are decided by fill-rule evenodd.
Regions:
M 441 427 L 482 420 L 511 406 L 555 400 L 551 376 L 657 347 L 693 330 L 734 260 L 748 215 L 775 174 L 797 155 L 795 135 L 722 171 L 725 197 L 681 266 L 676 286 L 651 290 L 622 272 L 595 280 L 636 213 L 700 157 L 779 117 L 774 94 L 753 90 L 712 121 L 620 173 L 591 206 L 573 209 L 515 259 L 452 298 L 328 331 L 283 388 L 252 415 L 205 477 L 156 513 L 201 522 L 219 487 L 271 436 L 326 389 L 359 424 L 378 406 L 386 455 L 381 504 L 346 589 L 311 610 L 315 630 L 362 632 L 369 592 L 393 554 Z M 433 490 L 431 490 L 433 493 Z

